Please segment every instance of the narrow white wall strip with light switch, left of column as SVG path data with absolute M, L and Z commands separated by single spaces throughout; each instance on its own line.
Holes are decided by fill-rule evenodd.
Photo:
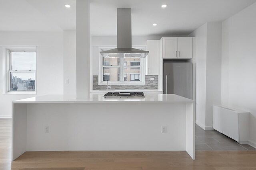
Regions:
M 76 31 L 63 31 L 63 41 L 63 94 L 76 95 Z

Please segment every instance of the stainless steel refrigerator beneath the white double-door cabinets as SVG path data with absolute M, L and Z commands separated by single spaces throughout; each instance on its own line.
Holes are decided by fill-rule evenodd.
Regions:
M 192 99 L 192 63 L 164 63 L 163 94 Z

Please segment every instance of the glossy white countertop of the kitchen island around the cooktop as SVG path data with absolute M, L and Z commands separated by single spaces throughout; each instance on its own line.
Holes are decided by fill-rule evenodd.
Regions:
M 45 95 L 13 101 L 13 104 L 32 103 L 192 103 L 193 100 L 176 94 L 146 94 L 145 98 L 104 98 L 102 94 L 91 94 L 90 98 L 77 99 L 74 96 Z

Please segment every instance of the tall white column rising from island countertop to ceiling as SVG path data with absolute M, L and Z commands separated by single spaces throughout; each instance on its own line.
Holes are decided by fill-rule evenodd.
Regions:
M 90 87 L 90 3 L 76 0 L 76 98 L 88 98 Z

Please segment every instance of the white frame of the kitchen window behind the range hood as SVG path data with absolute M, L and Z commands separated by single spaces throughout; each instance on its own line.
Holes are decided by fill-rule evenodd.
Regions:
M 109 50 L 109 49 L 114 49 L 116 47 L 99 47 L 99 52 L 104 50 Z M 132 48 L 136 49 L 141 49 L 141 50 L 146 50 L 146 46 L 132 46 Z M 99 85 L 106 85 L 107 81 L 103 81 L 103 68 L 104 67 L 119 67 L 120 70 L 120 78 L 118 82 L 108 82 L 109 85 L 144 85 L 145 84 L 145 73 L 146 73 L 146 58 L 140 58 L 140 66 L 124 66 L 125 58 L 120 58 L 120 64 L 119 66 L 103 66 L 103 57 L 102 55 L 99 54 L 99 73 L 98 73 L 98 84 Z M 124 67 L 140 67 L 140 81 L 124 81 L 124 74 L 129 74 L 129 73 L 124 73 L 125 68 Z M 133 73 L 132 73 L 133 74 Z

